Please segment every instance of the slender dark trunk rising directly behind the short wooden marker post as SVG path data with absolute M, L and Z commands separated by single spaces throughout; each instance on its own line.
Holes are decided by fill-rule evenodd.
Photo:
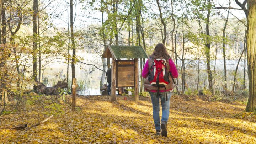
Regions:
M 73 0 L 70 0 L 70 34 L 71 34 L 71 44 L 72 44 L 72 62 L 71 62 L 71 69 L 72 69 L 72 84 L 73 79 L 75 78 L 75 39 L 74 39 L 74 29 L 73 29 Z

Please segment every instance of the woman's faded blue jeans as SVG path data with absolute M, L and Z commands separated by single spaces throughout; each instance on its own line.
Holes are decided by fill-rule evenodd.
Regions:
M 159 116 L 159 111 L 160 111 L 160 106 L 159 106 L 159 97 L 161 98 L 161 103 L 162 103 L 162 121 L 168 121 L 169 118 L 169 109 L 170 109 L 170 97 L 171 97 L 171 92 L 167 91 L 167 96 L 168 96 L 168 101 L 165 101 L 165 96 L 166 92 L 160 92 L 159 97 L 156 97 L 156 92 L 149 92 L 151 101 L 152 101 L 152 106 L 153 106 L 153 119 L 155 123 L 155 129 L 160 130 L 160 116 Z

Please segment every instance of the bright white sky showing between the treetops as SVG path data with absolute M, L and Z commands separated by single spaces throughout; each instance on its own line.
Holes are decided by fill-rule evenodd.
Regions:
M 87 0 L 88 1 L 88 0 Z M 230 7 L 234 8 L 240 8 L 234 0 L 230 0 L 231 4 Z M 241 1 L 241 0 L 240 0 Z M 43 5 L 48 5 L 50 0 L 45 0 Z M 54 0 L 49 4 L 49 7 L 46 8 L 48 13 L 52 14 L 51 20 L 53 22 L 53 25 L 58 28 L 67 28 L 68 27 L 68 20 L 70 18 L 70 6 L 68 4 L 70 2 L 69 0 Z M 229 0 L 213 0 L 215 7 L 228 7 Z M 241 1 L 242 2 L 242 1 Z M 95 4 L 94 6 L 97 6 L 98 4 Z M 75 17 L 74 21 L 74 27 L 75 29 L 80 29 L 81 27 L 86 27 L 87 25 L 93 24 L 93 23 L 100 23 L 102 15 L 99 11 L 93 11 L 90 8 L 84 9 L 85 7 L 88 7 L 88 5 L 84 3 L 79 3 L 79 0 L 74 0 L 74 6 L 73 6 L 73 15 Z M 227 11 L 224 9 L 217 10 L 220 14 L 223 14 L 224 17 L 226 17 Z M 158 11 L 156 11 L 157 13 Z M 229 18 L 235 18 L 233 15 L 235 15 L 237 18 L 245 18 L 244 11 L 242 10 L 230 10 L 231 14 L 229 15 Z M 58 15 L 58 17 L 55 17 L 54 15 Z M 106 14 L 104 16 L 106 19 Z M 212 17 L 212 18 L 216 18 Z M 220 18 L 220 17 L 219 17 Z M 69 20 L 70 21 L 70 20 Z

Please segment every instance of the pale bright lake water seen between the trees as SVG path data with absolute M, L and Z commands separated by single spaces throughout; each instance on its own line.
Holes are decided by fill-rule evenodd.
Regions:
M 227 60 L 227 62 L 226 62 L 226 66 L 228 69 L 228 81 L 230 81 L 230 83 L 232 82 L 232 80 L 234 78 L 234 76 L 231 73 L 233 71 L 235 71 L 237 61 L 238 60 Z M 87 63 L 89 63 L 89 62 L 87 62 Z M 96 63 L 95 65 L 102 65 L 100 58 L 95 63 Z M 194 73 L 194 75 L 195 75 L 193 80 L 189 77 L 186 78 L 188 80 L 188 82 L 187 82 L 188 85 L 193 85 L 195 83 L 194 81 L 197 79 L 197 62 L 194 62 L 193 64 L 187 63 L 187 62 L 185 62 L 185 63 L 186 63 L 186 68 L 191 69 L 192 70 L 191 73 Z M 139 64 L 140 64 L 140 62 L 139 62 Z M 88 71 L 94 69 L 94 66 L 89 66 L 89 65 L 84 65 L 84 64 L 79 64 L 79 65 L 81 65 L 81 67 L 76 65 L 76 79 L 78 81 L 78 84 L 80 84 L 82 86 L 80 86 L 80 90 L 78 91 L 78 94 L 80 94 L 80 95 L 101 95 L 100 80 L 101 80 L 102 71 L 95 69 L 94 71 L 89 73 Z M 213 73 L 213 67 L 214 67 L 214 61 L 212 61 L 212 67 L 211 67 L 212 73 Z M 99 67 L 99 68 L 103 69 L 102 67 Z M 140 68 L 140 66 L 139 66 L 139 68 Z M 246 66 L 246 68 L 247 68 L 247 66 Z M 204 85 L 207 85 L 208 81 L 207 81 L 207 75 L 206 75 L 206 64 L 201 63 L 200 69 L 201 69 L 201 81 L 202 81 L 202 83 L 204 82 Z M 216 70 L 220 71 L 220 73 L 219 73 L 220 76 L 224 75 L 224 73 L 222 72 L 223 69 L 224 69 L 223 68 L 223 60 L 221 60 L 221 59 L 217 60 L 216 61 Z M 243 76 L 243 69 L 244 69 L 244 61 L 241 60 L 240 64 L 239 64 L 240 77 Z M 140 70 L 139 70 L 139 73 L 140 73 Z M 64 79 L 65 76 L 66 76 L 66 64 L 64 64 L 64 63 L 50 64 L 44 70 L 44 78 L 47 78 L 49 81 L 48 86 L 52 86 L 54 81 L 56 81 L 56 79 Z M 180 74 L 180 76 L 181 76 L 181 74 Z M 54 81 L 51 82 L 51 80 L 54 80 Z M 69 80 L 71 80 L 71 66 L 69 68 Z M 139 80 L 140 80 L 140 78 L 139 78 Z M 180 79 L 180 81 L 181 81 L 181 79 Z M 106 84 L 106 80 L 103 81 L 103 84 Z M 231 84 L 230 84 L 230 86 L 231 86 Z

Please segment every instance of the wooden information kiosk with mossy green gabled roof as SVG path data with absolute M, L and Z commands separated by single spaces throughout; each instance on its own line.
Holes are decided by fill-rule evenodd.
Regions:
M 102 58 L 112 58 L 111 100 L 116 100 L 116 87 L 134 87 L 135 101 L 139 100 L 139 58 L 148 58 L 141 46 L 110 46 Z M 121 60 L 122 59 L 122 60 Z

